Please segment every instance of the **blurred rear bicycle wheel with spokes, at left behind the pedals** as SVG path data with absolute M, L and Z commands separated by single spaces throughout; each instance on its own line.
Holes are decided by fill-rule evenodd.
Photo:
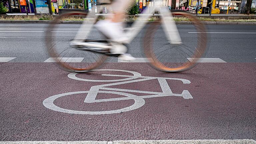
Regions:
M 49 62 L 56 62 L 57 65 L 67 71 L 88 72 L 105 61 L 105 55 L 81 49 L 88 47 L 70 46 L 70 41 L 75 38 L 77 33 L 89 33 L 87 37 L 93 40 L 104 39 L 96 29 L 92 29 L 90 32 L 81 31 L 79 29 L 81 24 L 63 24 L 63 21 L 67 18 L 81 18 L 81 20 L 84 20 L 86 16 L 87 12 L 68 11 L 56 17 L 49 24 L 45 38 L 47 51 L 51 57 Z

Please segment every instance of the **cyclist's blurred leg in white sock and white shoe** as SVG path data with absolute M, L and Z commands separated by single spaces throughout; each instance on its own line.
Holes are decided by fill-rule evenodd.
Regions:
M 127 47 L 122 44 L 125 41 L 122 21 L 125 14 L 125 9 L 131 0 L 114 0 L 111 4 L 114 15 L 106 20 L 100 20 L 95 24 L 95 27 L 113 41 L 114 48 L 110 50 L 112 54 L 120 54 L 121 61 L 133 61 L 135 58 L 126 53 Z

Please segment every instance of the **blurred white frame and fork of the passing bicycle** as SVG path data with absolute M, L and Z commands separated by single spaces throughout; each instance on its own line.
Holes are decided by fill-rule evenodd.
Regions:
M 154 0 L 155 6 L 153 9 L 146 9 L 143 10 L 142 14 L 139 15 L 138 19 L 132 24 L 131 28 L 125 33 L 125 39 L 122 41 L 122 43 L 130 43 L 137 34 L 143 29 L 143 27 L 147 23 L 147 19 L 151 16 L 150 14 L 153 14 L 156 9 L 159 9 L 160 11 L 160 18 L 163 21 L 162 25 L 166 34 L 166 37 L 170 44 L 182 44 L 178 29 L 175 25 L 175 22 L 173 21 L 173 17 L 170 14 L 170 11 L 168 8 L 162 7 L 160 0 Z M 104 8 L 104 5 L 100 5 L 97 8 L 99 8 L 99 11 L 102 11 Z M 146 14 L 146 12 L 148 12 Z M 97 15 L 94 13 L 88 14 L 89 18 L 93 18 L 93 23 L 97 21 Z M 90 31 L 93 28 L 93 25 L 88 25 L 87 22 L 83 22 L 82 26 L 79 29 L 79 32 L 83 31 Z M 89 46 L 89 47 L 97 47 L 97 48 L 110 48 L 109 45 L 101 45 L 96 43 L 86 43 L 84 42 L 86 40 L 86 37 L 88 33 L 77 33 L 74 40 L 71 42 L 74 45 L 82 45 L 82 46 Z

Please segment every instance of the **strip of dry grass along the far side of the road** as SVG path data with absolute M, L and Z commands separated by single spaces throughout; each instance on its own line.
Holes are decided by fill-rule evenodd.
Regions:
M 53 20 L 54 16 L 52 15 L 41 15 L 41 16 L 0 16 L 0 20 Z M 100 16 L 99 20 L 105 19 L 104 16 Z M 124 19 L 124 21 L 135 21 L 137 20 L 137 16 L 128 16 Z M 175 22 L 182 22 L 182 21 L 191 21 L 189 18 L 186 17 L 174 17 Z M 90 19 L 86 19 L 81 16 L 69 16 L 64 19 L 63 21 L 90 21 Z M 207 22 L 256 22 L 256 19 L 224 19 L 224 18 L 199 18 L 201 21 Z M 144 21 L 159 21 L 159 17 L 152 16 Z

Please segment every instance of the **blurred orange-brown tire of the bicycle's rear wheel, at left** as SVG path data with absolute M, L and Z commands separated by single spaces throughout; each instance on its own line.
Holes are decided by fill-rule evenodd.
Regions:
M 46 38 L 45 38 L 45 44 L 47 47 L 47 51 L 49 53 L 49 55 L 54 58 L 54 61 L 56 62 L 57 65 L 59 65 L 62 69 L 67 70 L 67 71 L 71 71 L 71 72 L 88 72 L 92 69 L 95 69 L 97 67 L 99 67 L 105 60 L 106 60 L 106 55 L 103 54 L 99 54 L 96 52 L 92 52 L 92 51 L 87 51 L 87 50 L 78 50 L 76 48 L 70 48 L 70 49 L 64 49 L 59 50 L 63 47 L 68 47 L 67 45 L 63 45 L 58 46 L 56 45 L 56 41 L 55 41 L 55 35 L 53 33 L 53 31 L 55 31 L 55 29 L 58 29 L 58 25 L 64 23 L 63 22 L 63 18 L 67 17 L 67 16 L 71 16 L 71 15 L 79 15 L 79 16 L 87 16 L 87 12 L 85 11 L 67 11 L 62 13 L 59 16 L 56 16 L 56 18 L 54 18 L 53 21 L 51 21 L 51 23 L 49 24 L 47 30 L 46 30 Z M 73 39 L 72 39 L 73 40 Z M 70 40 L 71 41 L 71 40 Z M 69 42 L 69 41 L 68 41 Z M 73 53 L 71 54 L 70 51 L 73 51 Z M 65 51 L 65 53 L 64 53 Z M 67 54 L 69 52 L 69 55 Z M 70 58 L 70 56 L 75 55 L 75 51 L 79 51 L 80 56 L 86 53 L 84 59 L 85 62 L 67 62 L 65 61 L 64 57 L 66 58 L 66 55 L 68 55 L 68 58 Z M 93 58 L 88 58 L 88 57 L 92 57 Z M 73 58 L 73 57 L 71 57 Z M 82 57 L 81 57 L 82 58 Z M 63 61 L 62 61 L 63 59 Z M 83 59 L 83 61 L 84 61 Z M 89 60 L 90 59 L 90 62 Z M 95 59 L 95 62 L 92 62 L 91 59 Z

